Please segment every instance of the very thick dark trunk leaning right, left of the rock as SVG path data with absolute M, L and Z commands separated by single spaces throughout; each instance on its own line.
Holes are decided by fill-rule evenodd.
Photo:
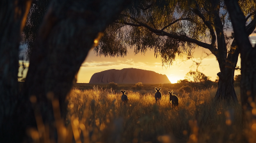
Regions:
M 67 94 L 88 51 L 97 44 L 100 33 L 116 14 L 125 8 L 125 0 L 54 1 L 45 15 L 30 57 L 24 84 L 25 99 L 36 97 L 44 123 L 53 123 L 52 102 L 59 102 L 63 120 L 67 113 Z M 21 105 L 21 106 L 22 106 Z M 33 110 L 26 111 L 27 126 L 36 126 Z M 25 114 L 25 113 L 24 113 Z

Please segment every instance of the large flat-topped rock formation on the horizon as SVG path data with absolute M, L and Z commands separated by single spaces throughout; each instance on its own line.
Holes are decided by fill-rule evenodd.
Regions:
M 122 70 L 105 70 L 94 73 L 90 79 L 90 84 L 104 84 L 115 82 L 118 84 L 165 84 L 170 83 L 166 75 L 162 75 L 149 70 L 136 68 L 124 68 Z

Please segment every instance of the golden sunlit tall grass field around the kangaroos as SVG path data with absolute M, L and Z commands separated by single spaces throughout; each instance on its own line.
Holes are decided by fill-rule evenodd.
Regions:
M 70 92 L 66 123 L 72 125 L 76 142 L 242 142 L 241 103 L 214 102 L 216 88 L 173 94 L 179 110 L 169 102 L 170 89 L 162 100 L 154 93 L 93 89 Z M 236 87 L 237 98 L 239 88 Z

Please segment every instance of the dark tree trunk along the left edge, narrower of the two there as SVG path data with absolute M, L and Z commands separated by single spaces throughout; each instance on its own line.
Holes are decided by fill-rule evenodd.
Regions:
M 31 1 L 0 2 L 0 142 L 18 142 L 24 137 L 17 119 L 20 33 Z M 20 132 L 20 133 L 17 133 Z

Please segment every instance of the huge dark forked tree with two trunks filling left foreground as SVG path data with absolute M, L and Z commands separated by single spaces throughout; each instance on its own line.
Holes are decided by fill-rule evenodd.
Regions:
M 0 142 L 31 142 L 26 131 L 36 128 L 35 117 L 39 114 L 43 124 L 54 129 L 54 101 L 59 102 L 61 119 L 65 121 L 67 94 L 88 51 L 98 43 L 99 33 L 131 1 L 53 0 L 38 30 L 24 91 L 20 94 L 20 34 L 31 3 L 0 2 Z M 64 142 L 63 139 L 58 142 Z

